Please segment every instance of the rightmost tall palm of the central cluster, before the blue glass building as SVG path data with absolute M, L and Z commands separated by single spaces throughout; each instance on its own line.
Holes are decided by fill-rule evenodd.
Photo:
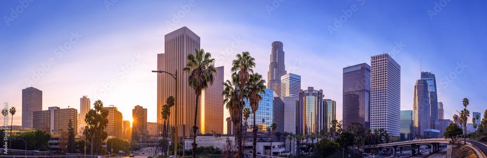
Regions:
M 249 95 L 250 108 L 254 114 L 254 126 L 252 133 L 254 135 L 253 146 L 257 146 L 257 126 L 255 125 L 255 112 L 259 109 L 259 102 L 262 100 L 261 93 L 265 94 L 265 80 L 262 80 L 262 75 L 259 73 L 250 74 L 249 82 L 247 82 L 246 89 Z M 256 148 L 252 149 L 253 157 L 256 158 Z

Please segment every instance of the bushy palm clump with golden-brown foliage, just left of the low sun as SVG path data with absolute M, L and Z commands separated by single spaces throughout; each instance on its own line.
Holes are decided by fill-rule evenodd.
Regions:
M 88 128 L 83 132 L 87 136 L 87 142 L 91 145 L 91 155 L 94 154 L 94 146 L 96 146 L 97 152 L 101 149 L 102 140 L 107 139 L 108 133 L 105 132 L 105 128 L 108 125 L 109 111 L 103 108 L 103 102 L 96 100 L 93 104 L 93 109 L 90 109 L 85 116 L 85 122 L 88 124 Z

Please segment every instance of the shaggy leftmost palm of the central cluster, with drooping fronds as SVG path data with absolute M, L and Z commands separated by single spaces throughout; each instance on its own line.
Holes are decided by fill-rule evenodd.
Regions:
M 242 121 L 242 104 L 240 104 L 240 89 L 237 75 L 238 74 L 232 74 L 232 80 L 226 80 L 223 83 L 224 90 L 222 91 L 222 96 L 224 97 L 223 104 L 225 105 L 225 108 L 228 109 L 232 123 L 235 125 L 237 130 L 235 132 L 235 137 L 239 138 L 241 135 L 239 124 Z M 241 148 L 239 148 L 239 150 L 240 149 Z

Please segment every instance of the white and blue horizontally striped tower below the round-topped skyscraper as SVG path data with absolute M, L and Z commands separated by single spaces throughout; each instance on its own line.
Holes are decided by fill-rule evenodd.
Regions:
M 298 99 L 301 89 L 301 76 L 294 73 L 286 73 L 281 76 L 281 100 L 284 97 L 293 96 Z

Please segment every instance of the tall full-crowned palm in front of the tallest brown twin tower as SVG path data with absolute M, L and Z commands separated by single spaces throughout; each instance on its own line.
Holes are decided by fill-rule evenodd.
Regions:
M 213 85 L 213 74 L 216 74 L 215 69 L 215 59 L 211 58 L 210 53 L 205 53 L 203 49 L 201 50 L 194 50 L 193 54 L 187 55 L 187 64 L 186 68 L 183 71 L 189 73 L 188 77 L 188 85 L 189 87 L 194 89 L 194 93 L 196 95 L 196 105 L 194 111 L 194 126 L 193 126 L 193 134 L 196 137 L 196 131 L 198 130 L 198 126 L 196 126 L 196 121 L 198 118 L 198 101 L 201 96 L 202 90 L 208 88 L 209 85 Z M 196 139 L 193 139 L 193 158 L 196 158 Z

